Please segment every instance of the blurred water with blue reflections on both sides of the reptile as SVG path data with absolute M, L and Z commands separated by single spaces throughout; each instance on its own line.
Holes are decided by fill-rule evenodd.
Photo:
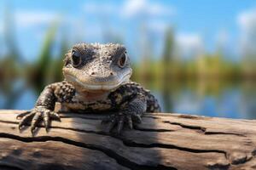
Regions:
M 256 82 L 143 83 L 152 89 L 164 112 L 256 119 Z M 22 83 L 18 83 L 22 87 Z M 23 88 L 17 88 L 23 89 Z M 0 89 L 1 109 L 31 109 L 37 99 L 32 88 L 6 94 Z

